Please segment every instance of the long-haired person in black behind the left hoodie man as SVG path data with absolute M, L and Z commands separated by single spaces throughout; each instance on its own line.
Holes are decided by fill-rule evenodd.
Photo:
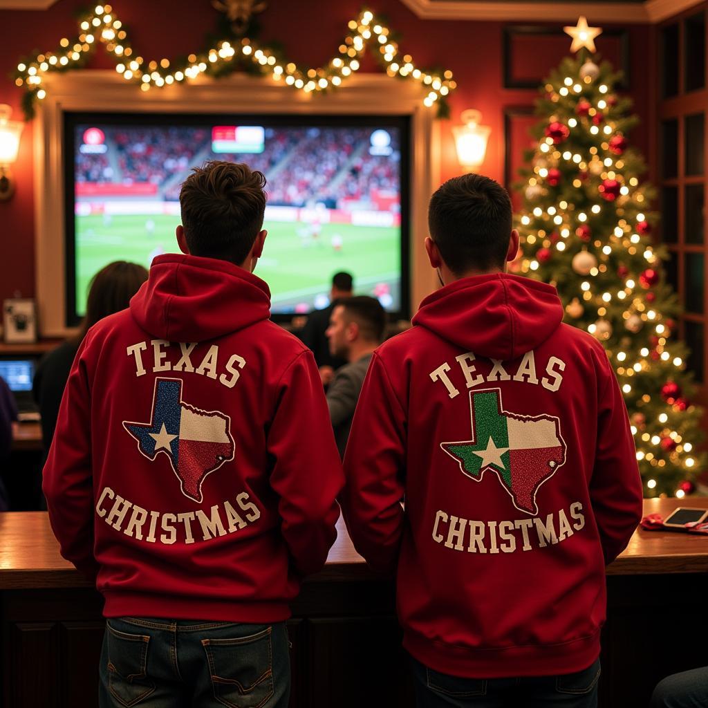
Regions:
M 125 309 L 130 298 L 146 280 L 147 270 L 137 263 L 114 261 L 101 268 L 91 280 L 89 297 L 86 301 L 86 316 L 81 322 L 79 331 L 48 353 L 37 367 L 32 393 L 42 416 L 42 445 L 45 453 L 52 444 L 64 387 L 69 378 L 69 371 L 72 369 L 76 350 L 79 349 L 79 344 L 86 332 L 109 314 Z

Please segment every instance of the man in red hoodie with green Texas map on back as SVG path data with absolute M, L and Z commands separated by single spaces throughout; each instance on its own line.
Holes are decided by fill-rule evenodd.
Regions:
M 452 179 L 428 219 L 444 287 L 372 357 L 344 462 L 350 536 L 397 569 L 419 706 L 594 706 L 605 564 L 641 518 L 622 394 L 554 287 L 506 274 L 506 190 Z

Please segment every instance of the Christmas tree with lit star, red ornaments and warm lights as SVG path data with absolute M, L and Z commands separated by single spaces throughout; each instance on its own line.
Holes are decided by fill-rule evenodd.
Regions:
M 565 320 L 598 338 L 624 393 L 645 496 L 682 497 L 704 464 L 702 410 L 692 404 L 686 348 L 675 338 L 678 304 L 653 242 L 658 215 L 644 161 L 629 142 L 636 117 L 619 96 L 620 75 L 595 63 L 584 18 L 572 52 L 542 87 L 543 116 L 522 171 L 516 217 L 523 254 L 518 273 L 554 284 Z

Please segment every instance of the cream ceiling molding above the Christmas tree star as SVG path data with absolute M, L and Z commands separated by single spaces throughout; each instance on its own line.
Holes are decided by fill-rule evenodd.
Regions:
M 646 2 L 499 2 L 495 0 L 401 0 L 425 20 L 564 22 L 584 15 L 592 23 L 656 23 L 697 5 L 702 0 Z

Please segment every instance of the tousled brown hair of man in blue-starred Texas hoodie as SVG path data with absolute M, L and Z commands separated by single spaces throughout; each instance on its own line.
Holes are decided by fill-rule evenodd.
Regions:
M 193 168 L 179 195 L 190 253 L 241 265 L 263 228 L 264 187 L 265 175 L 246 164 Z

